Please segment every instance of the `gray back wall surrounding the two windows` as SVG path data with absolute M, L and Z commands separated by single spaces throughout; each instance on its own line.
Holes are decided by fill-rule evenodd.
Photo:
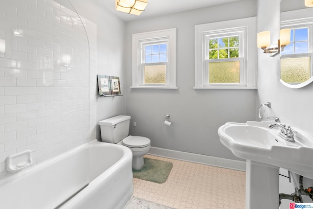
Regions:
M 256 90 L 195 90 L 195 25 L 256 16 L 255 0 L 241 0 L 156 18 L 126 23 L 126 114 L 137 126 L 130 134 L 151 139 L 159 148 L 228 159 L 236 158 L 217 134 L 225 122 L 256 120 Z M 234 10 L 240 8 L 240 10 Z M 178 90 L 130 89 L 132 86 L 132 34 L 178 29 Z M 165 126 L 165 114 L 172 126 Z

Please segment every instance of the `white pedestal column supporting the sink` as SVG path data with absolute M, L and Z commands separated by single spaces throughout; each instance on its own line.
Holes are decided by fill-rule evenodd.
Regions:
M 246 209 L 278 209 L 279 167 L 246 160 Z

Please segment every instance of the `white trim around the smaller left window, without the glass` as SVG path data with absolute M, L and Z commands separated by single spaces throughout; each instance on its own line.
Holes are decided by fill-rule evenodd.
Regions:
M 143 64 L 141 64 L 142 44 L 146 41 L 155 39 L 168 39 L 168 61 L 166 70 L 166 84 L 143 84 Z M 132 89 L 178 89 L 177 87 L 177 29 L 165 29 L 144 33 L 133 34 L 132 46 Z M 159 63 L 158 63 L 159 64 Z

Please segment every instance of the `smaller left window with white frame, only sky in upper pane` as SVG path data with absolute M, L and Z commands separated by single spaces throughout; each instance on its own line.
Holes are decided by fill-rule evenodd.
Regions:
M 177 89 L 176 28 L 133 34 L 133 86 Z

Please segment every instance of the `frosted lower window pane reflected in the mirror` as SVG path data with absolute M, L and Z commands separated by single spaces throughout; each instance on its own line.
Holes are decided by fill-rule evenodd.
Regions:
M 286 83 L 302 83 L 311 77 L 311 57 L 280 60 L 281 79 Z

